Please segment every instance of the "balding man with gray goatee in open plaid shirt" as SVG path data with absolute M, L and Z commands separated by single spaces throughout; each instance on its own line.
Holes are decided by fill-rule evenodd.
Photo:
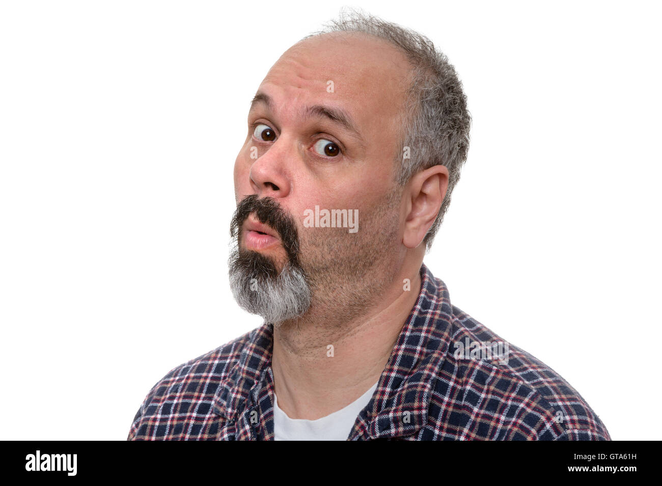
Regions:
M 422 263 L 467 157 L 455 69 L 353 13 L 252 101 L 230 284 L 265 323 L 167 374 L 130 440 L 610 440 L 551 368 L 451 305 Z

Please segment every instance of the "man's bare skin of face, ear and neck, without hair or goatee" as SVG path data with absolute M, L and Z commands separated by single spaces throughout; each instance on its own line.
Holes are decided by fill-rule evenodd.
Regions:
M 258 103 L 248 114 L 234 165 L 236 202 L 249 194 L 271 196 L 293 216 L 311 281 L 310 309 L 273 335 L 275 393 L 292 419 L 325 417 L 375 384 L 416 304 L 422 241 L 446 194 L 448 169 L 421 171 L 404 188 L 395 182 L 410 70 L 404 54 L 387 42 L 322 34 L 295 44 L 267 73 L 258 92 L 267 93 L 275 109 Z M 314 104 L 342 108 L 360 138 L 328 118 L 302 118 L 301 109 Z M 275 139 L 256 138 L 255 123 L 271 128 Z M 336 143 L 338 155 L 326 155 L 320 140 L 322 147 Z M 316 205 L 358 209 L 359 230 L 304 227 L 304 210 Z M 261 252 L 282 268 L 286 255 L 279 243 Z M 406 278 L 409 291 L 403 290 Z

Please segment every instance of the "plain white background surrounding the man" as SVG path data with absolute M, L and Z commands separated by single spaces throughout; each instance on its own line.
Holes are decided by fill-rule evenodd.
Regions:
M 124 440 L 175 366 L 261 319 L 227 278 L 250 98 L 343 3 L 0 3 L 3 439 Z M 612 438 L 657 410 L 660 9 L 348 4 L 429 36 L 473 116 L 425 263 Z

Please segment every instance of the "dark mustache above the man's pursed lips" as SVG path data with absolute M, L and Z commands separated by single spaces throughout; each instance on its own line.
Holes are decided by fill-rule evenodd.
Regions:
M 257 194 L 244 197 L 232 215 L 230 237 L 240 241 L 242 226 L 248 216 L 255 214 L 256 219 L 277 231 L 291 263 L 299 263 L 299 234 L 294 218 L 285 212 L 278 202 L 269 196 L 258 198 Z

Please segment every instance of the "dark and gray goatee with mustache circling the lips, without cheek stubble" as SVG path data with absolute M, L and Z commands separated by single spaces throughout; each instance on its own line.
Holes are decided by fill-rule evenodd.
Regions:
M 252 213 L 281 238 L 287 257 L 280 272 L 277 262 L 270 257 L 241 248 L 242 225 Z M 310 307 L 311 292 L 307 275 L 299 264 L 299 235 L 294 219 L 273 198 L 258 199 L 252 194 L 238 204 L 230 222 L 230 236 L 235 245 L 230 252 L 228 273 L 237 304 L 275 327 L 305 314 Z

